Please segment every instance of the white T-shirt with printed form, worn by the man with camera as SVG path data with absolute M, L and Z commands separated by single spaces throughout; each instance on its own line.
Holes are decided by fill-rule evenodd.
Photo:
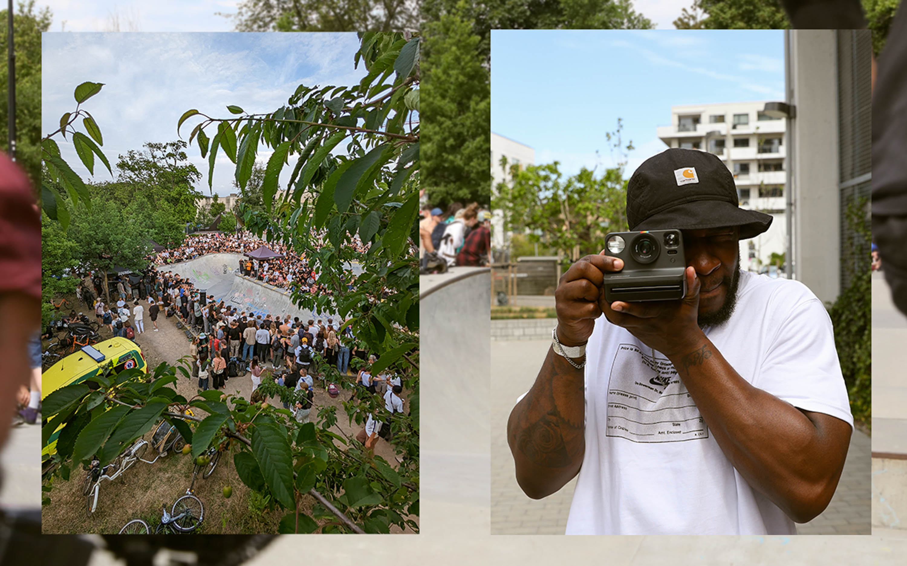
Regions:
M 803 283 L 741 273 L 734 314 L 706 334 L 756 388 L 853 427 L 831 319 Z M 567 534 L 796 533 L 731 465 L 670 361 L 603 316 L 585 381 Z

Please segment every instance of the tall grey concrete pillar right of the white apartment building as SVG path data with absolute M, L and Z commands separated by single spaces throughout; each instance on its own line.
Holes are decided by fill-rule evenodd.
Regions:
M 795 278 L 822 301 L 834 301 L 841 271 L 834 31 L 790 34 Z

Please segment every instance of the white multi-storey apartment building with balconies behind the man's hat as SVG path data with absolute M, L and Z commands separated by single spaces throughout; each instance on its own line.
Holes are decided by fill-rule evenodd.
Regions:
M 740 242 L 741 267 L 760 271 L 772 253 L 785 253 L 785 120 L 762 110 L 766 102 L 671 107 L 671 125 L 658 127 L 669 148 L 717 155 L 734 173 L 742 208 L 775 217 L 765 234 Z

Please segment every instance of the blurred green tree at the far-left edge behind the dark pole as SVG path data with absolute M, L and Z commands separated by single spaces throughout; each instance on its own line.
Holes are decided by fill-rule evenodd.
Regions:
M 5 5 L 5 3 L 4 3 Z M 0 50 L 7 51 L 7 12 L 0 10 Z M 51 25 L 49 8 L 35 10 L 34 0 L 19 2 L 13 11 L 15 46 L 15 158 L 32 181 L 41 185 L 41 34 Z M 4 56 L 5 60 L 5 56 Z M 7 66 L 0 65 L 0 149 L 9 150 L 6 129 L 9 108 Z

